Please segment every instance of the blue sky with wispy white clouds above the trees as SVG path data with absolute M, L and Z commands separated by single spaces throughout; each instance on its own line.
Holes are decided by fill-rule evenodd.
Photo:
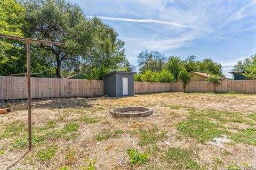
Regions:
M 133 65 L 142 50 L 166 57 L 211 58 L 228 73 L 256 53 L 256 0 L 71 0 L 86 16 L 99 16 L 125 41 Z

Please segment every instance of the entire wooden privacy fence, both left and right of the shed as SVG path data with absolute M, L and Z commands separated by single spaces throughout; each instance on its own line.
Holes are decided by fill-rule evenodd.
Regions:
M 26 99 L 25 77 L 0 77 L 0 99 Z M 180 92 L 182 83 L 134 82 L 134 94 L 154 92 Z M 207 81 L 189 82 L 187 92 L 213 92 L 212 83 Z M 234 91 L 241 94 L 256 94 L 256 80 L 221 81 L 217 92 Z M 52 97 L 94 97 L 104 95 L 104 81 L 82 79 L 31 78 L 32 98 Z

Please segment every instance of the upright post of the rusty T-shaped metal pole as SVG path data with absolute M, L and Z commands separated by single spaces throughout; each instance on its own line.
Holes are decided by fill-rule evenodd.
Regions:
M 27 91 L 28 91 L 28 151 L 32 149 L 31 91 L 30 91 L 30 40 L 27 41 Z

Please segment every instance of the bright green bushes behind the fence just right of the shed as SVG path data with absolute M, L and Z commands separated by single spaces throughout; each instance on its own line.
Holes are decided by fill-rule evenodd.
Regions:
M 161 72 L 153 72 L 147 70 L 142 74 L 135 74 L 134 81 L 144 81 L 144 82 L 174 82 L 174 75 L 169 71 L 162 70 Z

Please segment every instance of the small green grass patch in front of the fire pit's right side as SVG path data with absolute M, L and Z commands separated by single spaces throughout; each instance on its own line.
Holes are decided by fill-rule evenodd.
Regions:
M 140 129 L 138 145 L 143 147 L 149 144 L 155 144 L 164 139 L 166 139 L 166 131 L 159 131 L 156 127 Z

